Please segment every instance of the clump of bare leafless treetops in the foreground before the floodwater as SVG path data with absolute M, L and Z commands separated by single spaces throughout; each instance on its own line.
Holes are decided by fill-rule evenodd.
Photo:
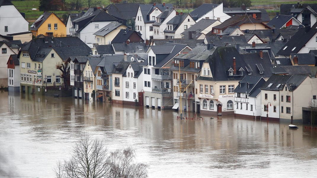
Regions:
M 71 159 L 57 162 L 56 178 L 146 178 L 148 165 L 134 162 L 132 148 L 108 153 L 104 142 L 84 134 Z

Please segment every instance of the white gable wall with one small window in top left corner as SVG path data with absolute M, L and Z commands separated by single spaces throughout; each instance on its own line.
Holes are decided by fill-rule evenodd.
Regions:
M 14 5 L 0 6 L 1 35 L 29 31 L 29 22 L 24 19 Z M 8 58 L 9 59 L 9 58 Z

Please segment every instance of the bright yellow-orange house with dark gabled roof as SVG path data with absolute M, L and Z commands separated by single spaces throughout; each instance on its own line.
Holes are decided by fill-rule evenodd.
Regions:
M 44 12 L 30 27 L 33 36 L 66 36 L 66 25 L 54 12 Z

